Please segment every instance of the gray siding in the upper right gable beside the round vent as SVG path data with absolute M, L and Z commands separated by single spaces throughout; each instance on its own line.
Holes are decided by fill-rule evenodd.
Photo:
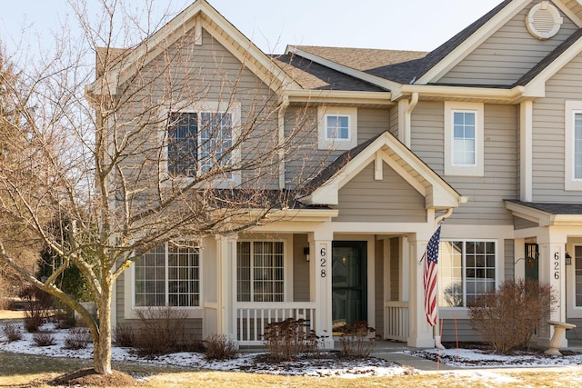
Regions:
M 538 40 L 530 35 L 525 20 L 529 9 L 537 3 L 539 2 L 532 2 L 519 12 L 507 25 L 499 28 L 438 82 L 461 85 L 512 85 L 569 35 L 577 31 L 577 26 L 562 14 L 564 24 L 554 37 Z

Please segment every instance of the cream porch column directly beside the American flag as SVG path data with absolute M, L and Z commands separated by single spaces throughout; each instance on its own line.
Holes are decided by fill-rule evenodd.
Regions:
M 411 234 L 410 243 L 410 272 L 409 272 L 409 325 L 408 346 L 417 348 L 435 347 L 433 328 L 426 323 L 425 293 L 423 286 L 424 263 L 420 262 L 426 251 L 426 244 L 432 233 Z M 437 307 L 438 308 L 438 307 Z

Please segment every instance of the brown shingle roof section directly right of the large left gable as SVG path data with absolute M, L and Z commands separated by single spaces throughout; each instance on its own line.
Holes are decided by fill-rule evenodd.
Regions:
M 316 64 L 298 55 L 272 55 L 276 65 L 297 84 L 310 90 L 347 90 L 361 92 L 384 92 L 376 85 L 368 84 L 356 77 L 346 75 L 324 65 Z

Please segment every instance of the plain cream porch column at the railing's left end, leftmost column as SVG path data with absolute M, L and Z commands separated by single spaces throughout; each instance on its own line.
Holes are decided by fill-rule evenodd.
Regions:
M 216 333 L 226 334 L 236 340 L 235 317 L 236 301 L 236 237 L 216 236 L 216 269 L 217 269 L 217 321 Z

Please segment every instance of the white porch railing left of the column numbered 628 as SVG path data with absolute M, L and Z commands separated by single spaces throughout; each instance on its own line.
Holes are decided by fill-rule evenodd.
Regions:
M 306 331 L 315 329 L 316 303 L 236 303 L 236 340 L 243 345 L 263 343 L 268 323 L 305 319 Z

